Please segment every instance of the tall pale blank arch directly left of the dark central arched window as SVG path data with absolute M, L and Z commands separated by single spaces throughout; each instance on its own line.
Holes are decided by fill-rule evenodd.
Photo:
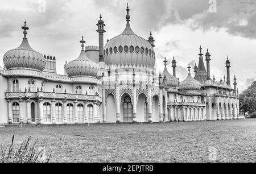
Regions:
M 117 106 L 115 105 L 115 98 L 112 94 L 109 94 L 106 98 L 106 122 L 117 122 Z

